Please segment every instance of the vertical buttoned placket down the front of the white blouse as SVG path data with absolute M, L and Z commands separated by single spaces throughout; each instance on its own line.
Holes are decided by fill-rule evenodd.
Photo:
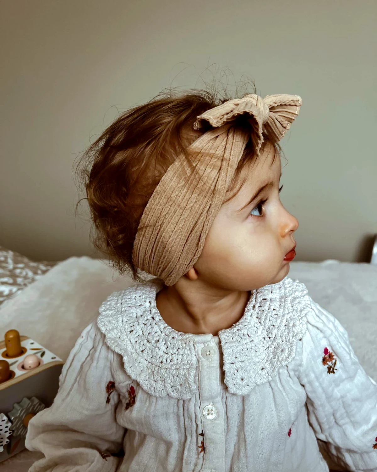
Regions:
M 220 353 L 212 334 L 197 335 L 195 348 L 199 363 L 199 413 L 205 446 L 200 472 L 225 472 Z

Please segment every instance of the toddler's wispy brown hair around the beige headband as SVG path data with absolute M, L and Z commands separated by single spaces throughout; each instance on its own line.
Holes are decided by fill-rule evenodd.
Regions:
M 114 269 L 120 274 L 128 273 L 135 282 L 143 281 L 132 262 L 132 250 L 144 208 L 178 155 L 183 153 L 188 162 L 192 162 L 188 146 L 206 131 L 194 130 L 193 124 L 201 113 L 232 99 L 225 90 L 223 93 L 223 97 L 218 97 L 216 90 L 161 92 L 120 115 L 76 165 L 79 185 L 84 187 L 94 223 L 95 235 L 90 235 L 94 247 L 108 256 Z M 247 93 L 255 93 L 255 87 L 253 92 Z M 233 98 L 237 98 L 237 94 Z M 235 126 L 252 132 L 242 116 Z M 268 135 L 264 139 L 263 146 L 273 144 L 275 160 L 279 144 Z M 232 192 L 237 183 L 238 189 L 224 203 L 242 187 L 245 181 L 239 182 L 239 174 L 246 163 L 254 159 L 250 139 L 227 193 Z M 195 170 L 193 166 L 192 169 Z

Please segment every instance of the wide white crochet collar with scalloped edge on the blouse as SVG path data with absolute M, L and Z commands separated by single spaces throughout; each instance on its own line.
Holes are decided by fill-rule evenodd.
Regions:
M 97 324 L 107 346 L 122 355 L 125 371 L 144 390 L 187 399 L 197 390 L 195 343 L 213 336 L 172 329 L 156 307 L 163 286 L 153 278 L 114 292 L 100 306 Z M 229 392 L 246 395 L 292 361 L 310 309 L 305 285 L 291 278 L 251 293 L 241 319 L 218 333 Z

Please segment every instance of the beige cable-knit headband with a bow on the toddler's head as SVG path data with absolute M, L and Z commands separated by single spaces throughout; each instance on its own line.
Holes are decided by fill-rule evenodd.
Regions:
M 168 168 L 141 216 L 133 244 L 133 263 L 140 270 L 174 285 L 202 252 L 209 228 L 220 210 L 249 134 L 232 121 L 248 114 L 254 151 L 260 153 L 263 131 L 279 141 L 299 113 L 298 95 L 248 94 L 229 100 L 197 117 L 194 129 L 207 121 L 213 128 L 189 146 L 198 152 L 196 172 L 181 154 Z M 208 154 L 210 153 L 210 154 Z M 213 155 L 208 159 L 208 155 Z

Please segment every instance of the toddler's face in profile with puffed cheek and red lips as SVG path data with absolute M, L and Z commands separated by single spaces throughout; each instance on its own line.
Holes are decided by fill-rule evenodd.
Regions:
M 203 282 L 246 291 L 287 276 L 284 257 L 295 246 L 298 221 L 280 202 L 281 162 L 273 156 L 267 145 L 260 158 L 242 169 L 240 179 L 246 182 L 238 194 L 221 206 L 194 264 Z

